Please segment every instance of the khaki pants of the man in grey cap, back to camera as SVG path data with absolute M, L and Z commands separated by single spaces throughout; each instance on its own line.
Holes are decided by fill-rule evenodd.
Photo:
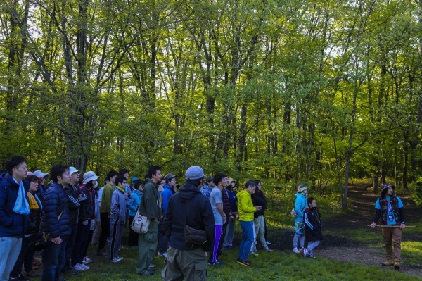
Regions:
M 207 280 L 207 256 L 201 248 L 184 251 L 170 247 L 161 271 L 163 281 Z

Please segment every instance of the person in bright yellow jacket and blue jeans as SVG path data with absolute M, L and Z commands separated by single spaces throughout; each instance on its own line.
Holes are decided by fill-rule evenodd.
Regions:
M 242 266 L 251 266 L 252 263 L 248 261 L 250 246 L 252 246 L 253 237 L 253 213 L 260 211 L 262 206 L 253 206 L 252 197 L 250 194 L 255 191 L 255 181 L 248 180 L 245 189 L 238 192 L 238 213 L 239 223 L 243 230 L 243 238 L 241 246 L 239 247 L 239 254 L 237 262 Z

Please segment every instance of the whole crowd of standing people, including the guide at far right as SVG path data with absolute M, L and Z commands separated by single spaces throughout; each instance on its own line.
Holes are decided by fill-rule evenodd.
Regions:
M 243 234 L 237 258 L 240 265 L 252 265 L 249 256 L 258 255 L 259 244 L 264 251 L 273 251 L 267 239 L 267 198 L 260 180 L 248 180 L 236 192 L 233 178 L 224 173 L 205 177 L 202 168 L 191 166 L 180 187 L 176 175 L 162 177 L 161 168 L 151 166 L 145 180 L 132 177 L 130 182 L 129 170 L 111 170 L 104 186 L 98 188 L 94 171 L 81 175 L 72 166 L 59 164 L 50 173 L 30 172 L 25 158 L 14 156 L 5 168 L 0 184 L 0 247 L 4 252 L 0 281 L 39 277 L 33 269 L 41 263 L 34 260 L 40 250 L 42 281 L 65 280 L 65 273 L 89 270 L 93 261 L 87 256 L 89 244 L 98 247 L 97 256 L 119 263 L 124 259 L 119 251 L 125 227 L 129 227 L 128 246 L 138 249 L 136 273 L 153 275 L 151 262 L 158 254 L 166 259 L 162 280 L 206 280 L 207 266 L 223 266 L 222 251 L 234 248 L 237 220 Z M 376 209 L 374 222 L 381 218 L 385 225 L 400 223 L 399 228 L 385 230 L 388 261 L 383 263 L 399 268 L 404 213 L 391 185 L 383 188 Z M 130 228 L 137 213 L 148 219 L 145 233 Z M 293 213 L 293 253 L 315 258 L 313 249 L 322 239 L 322 220 L 316 199 L 308 198 L 306 185 L 298 186 Z M 186 239 L 186 226 L 199 231 L 203 242 Z

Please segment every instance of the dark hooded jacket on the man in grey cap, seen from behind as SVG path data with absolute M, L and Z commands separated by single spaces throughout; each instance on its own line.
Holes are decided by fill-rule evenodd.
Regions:
M 195 248 L 185 242 L 185 225 L 207 232 L 207 242 L 203 244 L 203 250 L 208 251 L 215 235 L 214 215 L 210 200 L 191 183 L 186 183 L 170 198 L 162 226 L 165 236 L 170 237 L 170 246 L 189 251 Z

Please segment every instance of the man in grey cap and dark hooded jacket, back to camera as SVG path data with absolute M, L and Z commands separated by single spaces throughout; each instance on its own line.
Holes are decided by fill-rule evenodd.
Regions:
M 170 249 L 167 263 L 162 269 L 162 280 L 207 280 L 205 251 L 214 240 L 214 215 L 210 201 L 198 190 L 203 185 L 204 172 L 199 166 L 186 170 L 186 184 L 170 198 L 163 222 Z M 207 241 L 203 246 L 187 244 L 184 226 L 205 230 Z

